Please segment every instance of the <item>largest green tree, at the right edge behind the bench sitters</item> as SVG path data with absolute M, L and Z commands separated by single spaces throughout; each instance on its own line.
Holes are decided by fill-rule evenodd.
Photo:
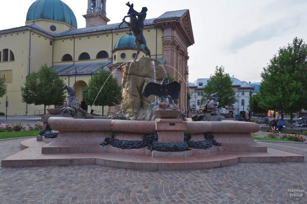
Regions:
M 261 103 L 267 109 L 293 112 L 307 107 L 307 45 L 297 37 L 280 47 L 261 73 Z

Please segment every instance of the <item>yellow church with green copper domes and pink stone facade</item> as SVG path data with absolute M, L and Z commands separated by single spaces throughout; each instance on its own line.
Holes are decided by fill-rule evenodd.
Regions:
M 76 89 L 81 108 L 89 110 L 91 104 L 84 102 L 83 95 L 93 74 L 102 65 L 110 71 L 134 59 L 135 37 L 128 26 L 122 24 L 119 28 L 121 22 L 108 24 L 106 0 L 87 1 L 83 15 L 86 28 L 78 28 L 75 14 L 64 2 L 36 0 L 28 9 L 25 26 L 0 31 L 0 74 L 7 84 L 8 115 L 44 113 L 43 105 L 21 101 L 20 88 L 26 77 L 45 63 L 59 73 L 64 83 Z M 157 18 L 146 19 L 144 24 L 151 57 L 161 61 L 167 72 L 181 83 L 178 107 L 186 111 L 187 75 L 184 73 L 188 66 L 188 47 L 195 43 L 189 10 L 161 13 Z M 138 59 L 143 56 L 149 57 L 141 49 Z M 113 74 L 121 84 L 121 71 Z M 5 113 L 5 101 L 6 96 L 0 98 L 0 112 Z M 102 114 L 102 107 L 93 109 L 94 113 Z M 105 107 L 104 115 L 108 111 Z

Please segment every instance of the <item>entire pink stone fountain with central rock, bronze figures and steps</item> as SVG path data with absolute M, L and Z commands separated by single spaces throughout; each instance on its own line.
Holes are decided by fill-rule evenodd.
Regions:
M 126 5 L 131 9 L 130 18 L 139 15 L 132 10 L 133 4 Z M 142 37 L 144 42 L 142 32 L 134 35 Z M 136 43 L 140 46 L 140 42 Z M 155 69 L 153 77 L 150 67 Z M 1 166 L 96 164 L 180 170 L 238 162 L 304 162 L 304 156 L 256 143 L 251 137 L 251 133 L 259 130 L 256 123 L 182 120 L 184 115 L 173 103 L 173 99 L 178 98 L 180 84 L 168 83 L 162 67 L 149 57 L 127 63 L 122 68 L 122 104 L 110 119 L 49 117 L 50 128 L 58 131 L 56 139 L 41 141 L 39 136 L 24 140 L 21 142 L 24 150 L 3 159 Z M 205 104 L 210 115 L 216 115 L 217 104 L 213 97 Z

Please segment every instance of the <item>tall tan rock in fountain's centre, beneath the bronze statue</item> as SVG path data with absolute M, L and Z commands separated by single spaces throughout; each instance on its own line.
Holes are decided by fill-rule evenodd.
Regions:
M 108 119 L 120 120 L 139 120 L 151 121 L 157 116 L 153 113 L 158 108 L 157 96 L 150 95 L 144 97 L 141 95 L 145 86 L 149 82 L 160 83 L 166 76 L 161 62 L 149 57 L 142 57 L 139 61 L 130 62 L 122 68 L 122 103 L 117 107 L 114 113 L 111 113 Z M 177 110 L 173 100 L 169 98 L 171 110 Z M 181 113 L 179 118 L 184 118 Z

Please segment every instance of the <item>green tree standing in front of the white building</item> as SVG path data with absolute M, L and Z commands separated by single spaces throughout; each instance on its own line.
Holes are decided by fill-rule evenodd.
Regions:
M 218 92 L 220 107 L 232 106 L 237 99 L 232 89 L 232 81 L 228 73 L 225 73 L 223 66 L 216 66 L 213 75 L 210 75 L 210 80 L 204 86 L 204 95 L 202 101 L 207 99 L 208 94 Z

